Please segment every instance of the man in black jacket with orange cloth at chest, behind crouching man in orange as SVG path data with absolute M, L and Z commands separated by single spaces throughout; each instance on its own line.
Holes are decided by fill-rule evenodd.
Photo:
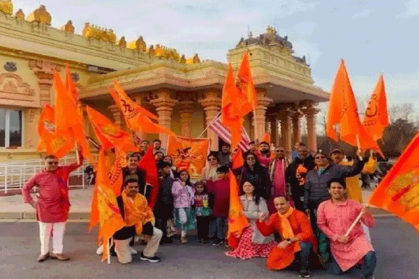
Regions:
M 293 160 L 285 172 L 286 182 L 289 183 L 291 188 L 291 197 L 293 197 L 293 202 L 295 209 L 304 211 L 304 183 L 300 183 L 297 178 L 297 169 L 299 166 L 304 167 L 309 172 L 314 168 L 314 158 L 309 153 L 307 146 L 300 146 L 298 148 L 298 156 Z

